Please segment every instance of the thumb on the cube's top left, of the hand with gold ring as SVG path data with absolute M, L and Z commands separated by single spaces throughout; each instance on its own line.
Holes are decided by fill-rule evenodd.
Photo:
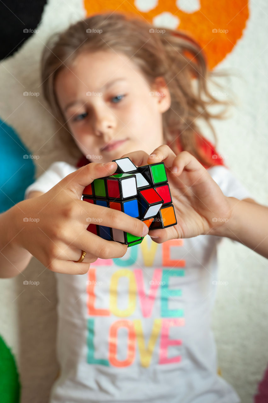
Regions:
M 116 162 L 106 162 L 105 164 L 91 162 L 67 175 L 62 179 L 61 185 L 77 194 L 77 197 L 81 199 L 85 186 L 92 183 L 94 179 L 112 175 L 116 169 Z

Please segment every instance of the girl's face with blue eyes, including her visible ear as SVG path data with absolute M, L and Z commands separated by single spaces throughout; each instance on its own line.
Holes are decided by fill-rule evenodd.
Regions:
M 124 54 L 80 54 L 58 73 L 55 90 L 75 142 L 91 162 L 109 162 L 137 150 L 151 154 L 163 144 L 168 89 L 161 77 L 150 87 Z

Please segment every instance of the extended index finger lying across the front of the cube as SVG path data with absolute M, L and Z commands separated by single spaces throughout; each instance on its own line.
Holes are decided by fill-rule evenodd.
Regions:
M 84 200 L 79 200 L 76 203 L 81 206 L 81 210 L 77 212 L 77 217 L 84 224 L 96 223 L 129 232 L 137 237 L 145 237 L 148 234 L 148 226 L 144 222 L 122 211 L 91 204 Z

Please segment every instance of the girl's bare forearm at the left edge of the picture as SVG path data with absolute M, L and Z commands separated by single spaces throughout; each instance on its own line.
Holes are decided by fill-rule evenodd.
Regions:
M 31 253 L 17 243 L 17 235 L 23 229 L 23 222 L 20 223 L 17 216 L 18 212 L 22 213 L 21 207 L 19 203 L 0 214 L 0 278 L 17 276 L 32 258 Z

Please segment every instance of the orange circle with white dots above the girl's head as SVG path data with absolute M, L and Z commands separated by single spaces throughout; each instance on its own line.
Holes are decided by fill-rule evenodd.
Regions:
M 187 4 L 188 3 L 188 4 Z M 189 3 L 191 6 L 189 6 Z M 139 6 L 140 4 L 140 6 Z M 136 6 L 137 5 L 137 6 Z M 249 17 L 247 0 L 84 0 L 87 17 L 99 12 L 126 12 L 139 15 L 155 25 L 163 13 L 172 19 L 172 29 L 190 34 L 204 49 L 208 65 L 213 69 L 230 53 L 243 35 Z M 148 8 L 148 11 L 144 9 Z M 190 9 L 189 7 L 192 7 Z M 143 11 L 141 10 L 143 9 Z M 158 20 L 159 21 L 159 20 Z M 159 26 L 157 24 L 157 26 Z

